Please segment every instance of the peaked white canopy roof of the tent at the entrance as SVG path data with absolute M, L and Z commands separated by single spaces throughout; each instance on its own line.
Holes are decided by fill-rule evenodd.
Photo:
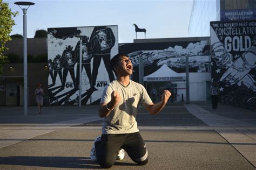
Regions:
M 174 72 L 171 68 L 164 64 L 156 72 L 143 77 L 147 82 L 159 82 L 159 81 L 185 81 L 186 77 Z

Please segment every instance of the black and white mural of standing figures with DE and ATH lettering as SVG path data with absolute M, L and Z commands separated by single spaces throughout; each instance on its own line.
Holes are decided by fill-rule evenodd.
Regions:
M 48 29 L 49 104 L 78 104 L 80 76 L 82 104 L 97 103 L 104 87 L 114 80 L 110 60 L 117 53 L 117 25 Z

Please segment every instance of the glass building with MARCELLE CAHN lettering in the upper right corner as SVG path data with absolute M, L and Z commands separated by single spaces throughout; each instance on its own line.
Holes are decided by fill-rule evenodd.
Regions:
M 210 22 L 252 19 L 256 19 L 256 0 L 194 0 L 188 36 L 210 36 Z

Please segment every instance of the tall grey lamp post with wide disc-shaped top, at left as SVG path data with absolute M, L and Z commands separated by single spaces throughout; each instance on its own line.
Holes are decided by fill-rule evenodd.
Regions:
M 28 66 L 27 66 L 27 48 L 26 48 L 26 10 L 30 5 L 35 5 L 32 2 L 15 2 L 19 8 L 22 6 L 28 6 L 28 8 L 21 8 L 23 11 L 23 72 L 24 72 L 24 116 L 28 116 Z

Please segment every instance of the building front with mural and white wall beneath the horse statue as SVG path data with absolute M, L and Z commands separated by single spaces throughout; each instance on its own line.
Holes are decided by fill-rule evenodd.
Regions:
M 139 82 L 139 58 L 144 62 L 144 77 L 158 73 L 166 77 L 151 77 L 144 80 L 150 94 L 152 88 L 161 94 L 161 90 L 172 91 L 172 101 L 186 101 L 186 84 L 180 79 L 186 76 L 186 57 L 188 57 L 190 101 L 210 100 L 211 58 L 209 37 L 134 39 L 134 43 L 119 44 L 119 52 L 127 53 L 133 63 L 132 79 Z M 175 76 L 179 74 L 179 76 Z M 169 76 L 168 76 L 169 75 Z M 165 80 L 164 80 L 165 79 Z M 160 96 L 157 96 L 160 100 Z

